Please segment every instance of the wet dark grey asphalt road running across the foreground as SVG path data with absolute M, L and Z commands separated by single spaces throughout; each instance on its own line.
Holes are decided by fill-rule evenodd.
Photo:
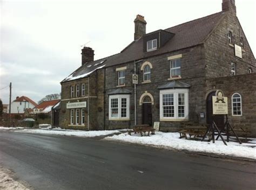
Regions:
M 0 164 L 35 189 L 256 189 L 256 163 L 93 138 L 0 131 Z

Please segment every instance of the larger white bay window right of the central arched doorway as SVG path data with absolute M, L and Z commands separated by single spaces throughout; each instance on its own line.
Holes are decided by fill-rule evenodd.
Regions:
M 160 121 L 188 120 L 188 89 L 160 90 Z

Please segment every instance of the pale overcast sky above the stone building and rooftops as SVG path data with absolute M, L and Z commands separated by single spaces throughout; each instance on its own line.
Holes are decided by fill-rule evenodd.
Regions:
M 1 1 L 0 98 L 39 101 L 60 93 L 60 81 L 81 65 L 81 46 L 95 59 L 119 53 L 133 40 L 137 14 L 147 32 L 221 11 L 222 0 Z M 237 16 L 256 55 L 256 1 L 235 0 Z M 2 89 L 4 88 L 4 89 Z

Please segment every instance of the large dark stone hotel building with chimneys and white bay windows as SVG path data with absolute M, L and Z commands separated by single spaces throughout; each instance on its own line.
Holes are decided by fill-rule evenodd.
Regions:
M 60 126 L 107 130 L 160 122 L 160 130 L 176 131 L 206 125 L 211 97 L 221 89 L 230 123 L 255 135 L 256 61 L 235 1 L 169 29 L 146 33 L 146 24 L 137 15 L 134 41 L 118 54 L 95 61 L 92 48 L 83 48 L 82 66 L 61 82 Z M 216 119 L 224 124 L 224 116 Z

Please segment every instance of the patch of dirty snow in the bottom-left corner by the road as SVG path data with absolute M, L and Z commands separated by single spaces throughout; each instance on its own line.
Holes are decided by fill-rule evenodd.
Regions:
M 19 189 L 19 190 L 29 190 L 25 185 L 19 181 L 15 181 L 12 178 L 12 173 L 3 167 L 0 167 L 0 189 Z

